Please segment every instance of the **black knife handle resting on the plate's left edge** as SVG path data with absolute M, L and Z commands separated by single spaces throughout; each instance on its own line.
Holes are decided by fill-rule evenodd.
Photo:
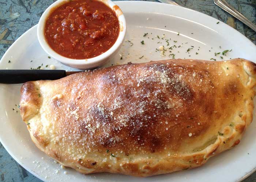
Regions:
M 65 70 L 0 70 L 0 83 L 56 80 L 65 77 L 65 72 Z

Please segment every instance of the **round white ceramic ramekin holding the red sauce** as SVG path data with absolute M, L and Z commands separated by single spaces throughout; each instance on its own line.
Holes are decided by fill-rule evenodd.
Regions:
M 110 0 L 98 0 L 98 1 L 102 1 L 103 3 L 108 5 L 111 9 L 113 9 L 114 12 L 116 12 L 116 15 L 118 17 L 118 21 L 119 21 L 119 24 L 120 24 L 120 32 L 119 32 L 119 35 L 117 37 L 117 40 L 114 43 L 114 45 L 108 51 L 104 52 L 103 54 L 101 54 L 99 56 L 96 56 L 96 57 L 90 58 L 90 59 L 70 59 L 70 58 L 66 58 L 64 56 L 61 56 L 60 54 L 55 52 L 48 45 L 48 43 L 46 41 L 46 38 L 45 38 L 45 35 L 44 35 L 45 23 L 46 23 L 46 20 L 48 19 L 49 14 L 52 12 L 52 9 L 55 9 L 55 8 L 59 7 L 60 5 L 66 3 L 68 1 L 69 0 L 57 0 L 55 3 L 50 5 L 45 10 L 45 12 L 42 14 L 42 16 L 41 16 L 41 18 L 38 22 L 38 25 L 37 25 L 37 37 L 38 37 L 38 41 L 39 41 L 41 47 L 52 58 L 58 60 L 62 64 L 65 64 L 65 65 L 73 67 L 73 68 L 86 70 L 86 69 L 101 66 L 106 61 L 113 58 L 113 56 L 120 50 L 120 48 L 123 44 L 125 33 L 126 33 L 126 22 L 125 22 L 125 17 L 123 15 L 123 12 L 121 11 L 121 9 L 116 4 L 114 4 Z

